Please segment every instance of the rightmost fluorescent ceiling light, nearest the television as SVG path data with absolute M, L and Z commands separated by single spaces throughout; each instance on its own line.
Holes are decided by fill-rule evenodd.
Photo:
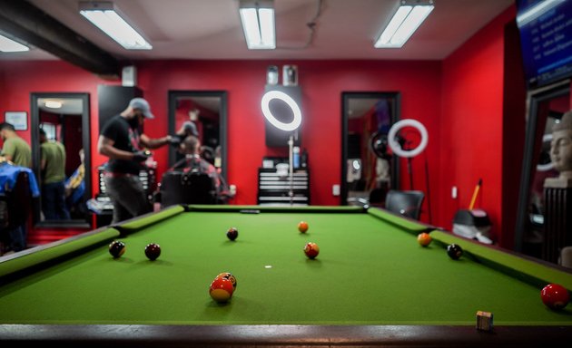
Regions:
M 433 2 L 401 1 L 398 10 L 374 44 L 375 48 L 400 48 L 433 11 Z

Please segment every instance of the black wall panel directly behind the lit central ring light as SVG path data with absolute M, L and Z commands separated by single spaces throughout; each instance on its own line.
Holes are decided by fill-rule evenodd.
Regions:
M 301 128 L 304 125 L 304 109 L 301 105 L 301 88 L 300 86 L 281 86 L 281 85 L 266 85 L 265 92 L 281 91 L 291 96 L 291 98 L 298 103 L 302 113 L 302 122 L 298 130 L 293 131 L 294 145 L 301 146 Z M 277 100 L 272 100 L 269 104 L 272 115 L 281 122 L 289 123 L 293 119 L 293 112 L 290 107 L 285 103 Z M 281 131 L 272 126 L 271 123 L 264 118 L 264 127 L 266 132 L 266 146 L 271 148 L 288 147 L 288 140 L 290 140 L 291 131 Z

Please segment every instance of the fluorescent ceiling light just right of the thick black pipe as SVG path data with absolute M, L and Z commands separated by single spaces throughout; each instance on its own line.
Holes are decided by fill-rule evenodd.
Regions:
M 151 50 L 153 46 L 123 19 L 111 2 L 82 2 L 80 14 L 127 50 Z

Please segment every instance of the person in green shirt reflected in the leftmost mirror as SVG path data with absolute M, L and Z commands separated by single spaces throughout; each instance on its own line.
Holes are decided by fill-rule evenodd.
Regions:
M 65 148 L 61 142 L 47 139 L 40 129 L 42 169 L 42 211 L 46 220 L 69 219 L 65 205 Z

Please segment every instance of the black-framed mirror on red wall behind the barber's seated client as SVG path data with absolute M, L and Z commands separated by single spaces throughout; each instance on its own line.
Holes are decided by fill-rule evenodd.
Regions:
M 169 134 L 180 131 L 185 122 L 192 121 L 199 133 L 201 155 L 226 180 L 226 92 L 169 91 Z M 169 150 L 169 167 L 182 154 Z

